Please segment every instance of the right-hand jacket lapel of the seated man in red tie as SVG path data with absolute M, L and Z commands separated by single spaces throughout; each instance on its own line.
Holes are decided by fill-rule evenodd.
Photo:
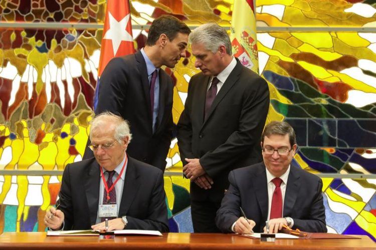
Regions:
M 299 188 L 301 185 L 300 175 L 297 169 L 293 169 L 293 168 L 294 167 L 290 165 L 290 173 L 289 173 L 289 177 L 287 180 L 285 199 L 283 202 L 283 216 L 284 217 L 291 215 L 291 212 L 293 210 L 296 197 L 298 195 Z

